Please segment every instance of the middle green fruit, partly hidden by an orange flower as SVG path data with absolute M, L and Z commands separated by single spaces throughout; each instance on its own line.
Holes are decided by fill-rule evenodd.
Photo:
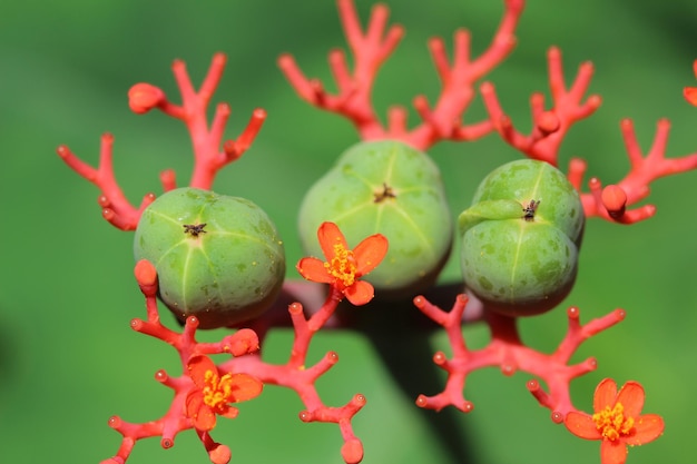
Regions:
M 300 210 L 305 251 L 322 256 L 317 228 L 335 223 L 351 246 L 387 237 L 384 260 L 365 279 L 379 297 L 401 297 L 431 285 L 452 245 L 452 219 L 441 175 L 429 156 L 403 142 L 361 142 L 307 191 Z

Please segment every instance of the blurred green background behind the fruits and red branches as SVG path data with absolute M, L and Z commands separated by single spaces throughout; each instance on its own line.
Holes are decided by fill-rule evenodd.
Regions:
M 371 2 L 359 0 L 365 20 Z M 392 19 L 406 36 L 375 85 L 381 115 L 392 103 L 409 105 L 416 93 L 439 91 L 426 51 L 431 36 L 450 43 L 452 31 L 468 27 L 473 47 L 489 42 L 502 11 L 500 1 L 389 1 Z M 562 166 L 571 156 L 589 162 L 589 174 L 606 182 L 628 171 L 619 120 L 636 122 L 639 141 L 651 142 L 658 118 L 673 121 L 668 154 L 697 150 L 697 108 L 681 98 L 697 85 L 697 3 L 589 0 L 563 3 L 530 0 L 514 53 L 489 76 L 513 120 L 528 129 L 528 97 L 548 90 L 546 50 L 561 47 L 571 78 L 592 60 L 591 92 L 602 107 L 578 124 L 561 148 Z M 344 47 L 333 1 L 77 1 L 6 0 L 0 6 L 0 455 L 8 463 L 96 463 L 112 455 L 120 435 L 107 426 L 119 414 L 144 422 L 160 416 L 170 392 L 153 379 L 159 368 L 177 369 L 175 352 L 130 330 L 145 314 L 132 278 L 131 235 L 99 215 L 97 189 L 56 156 L 59 144 L 97 162 L 99 136 L 116 137 L 118 180 L 131 201 L 159 191 L 157 174 L 175 168 L 186 182 L 192 157 L 179 121 L 161 113 L 135 116 L 126 100 L 138 81 L 178 95 L 169 65 L 186 60 L 199 82 L 214 52 L 228 66 L 214 101 L 227 101 L 233 115 L 227 136 L 246 125 L 255 107 L 268 111 L 254 147 L 225 169 L 215 188 L 247 197 L 277 223 L 287 245 L 288 275 L 302 256 L 295 215 L 305 189 L 356 141 L 351 125 L 301 101 L 276 67 L 291 51 L 310 76 L 331 86 L 326 52 Z M 465 120 L 483 117 L 475 101 Z M 411 121 L 415 121 L 412 112 Z M 443 142 L 431 150 L 442 167 L 453 216 L 469 204 L 478 181 L 519 154 L 497 136 L 474 144 Z M 694 462 L 694 386 L 697 362 L 695 316 L 697 286 L 697 172 L 652 184 L 655 218 L 631 227 L 590 220 L 578 284 L 562 308 L 522 324 L 526 340 L 551 351 L 566 329 L 563 307 L 577 305 L 583 320 L 616 307 L 627 319 L 582 346 L 577 361 L 596 356 L 599 368 L 576 381 L 577 405 L 589 409 L 595 385 L 611 376 L 640 381 L 648 393 L 646 412 L 666 419 L 665 435 L 630 451 L 631 463 Z M 444 280 L 458 278 L 452 260 Z M 369 312 L 370 308 L 356 309 Z M 394 308 L 394 317 L 415 312 Z M 168 319 L 170 320 L 170 319 Z M 484 327 L 467 327 L 472 346 L 487 342 Z M 220 333 L 206 335 L 219 338 Z M 413 336 L 413 335 L 410 335 Z M 442 335 L 411 339 L 399 330 L 381 334 L 386 357 L 413 357 L 406 377 L 428 387 L 401 388 L 364 335 L 330 332 L 317 337 L 311 359 L 335 349 L 341 362 L 318 383 L 328 405 L 344 404 L 356 392 L 369 405 L 354 419 L 373 463 L 593 463 L 598 443 L 571 436 L 549 419 L 524 388 L 528 378 L 503 377 L 497 369 L 477 372 L 467 396 L 477 408 L 436 414 L 418 409 L 418 393 L 442 385 L 429 364 L 446 348 Z M 273 332 L 267 359 L 283 362 L 288 330 Z M 400 353 L 385 353 L 384 349 Z M 402 369 L 404 366 L 396 366 Z M 411 373 L 411 374 L 410 374 Z M 434 376 L 435 375 L 435 376 Z M 419 385 L 419 382 L 414 382 Z M 233 450 L 235 463 L 340 463 L 337 427 L 303 424 L 294 393 L 269 387 L 243 405 L 236 421 L 222 421 L 215 437 Z M 452 432 L 454 442 L 441 440 Z M 178 436 L 173 450 L 157 440 L 137 444 L 131 464 L 205 463 L 193 432 Z

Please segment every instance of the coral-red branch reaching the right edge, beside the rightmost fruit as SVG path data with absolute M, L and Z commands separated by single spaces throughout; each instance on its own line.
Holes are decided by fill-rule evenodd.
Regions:
M 651 181 L 696 169 L 697 154 L 680 158 L 666 158 L 670 131 L 670 121 L 667 119 L 658 121 L 654 142 L 646 156 L 641 152 L 631 120 L 624 119 L 620 127 L 630 162 L 629 174 L 617 185 L 609 185 L 605 188 L 598 178 L 591 178 L 588 182 L 590 194 L 582 194 L 581 200 L 588 217 L 599 216 L 610 221 L 634 224 L 654 216 L 656 207 L 654 205 L 644 205 L 636 209 L 627 209 L 627 207 L 649 195 Z M 586 161 L 581 159 L 573 159 L 570 164 L 569 180 L 578 190 L 580 190 L 586 168 Z

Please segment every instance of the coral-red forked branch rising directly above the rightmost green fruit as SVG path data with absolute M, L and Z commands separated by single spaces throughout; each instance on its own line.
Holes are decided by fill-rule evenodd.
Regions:
M 593 66 L 585 62 L 571 87 L 567 89 L 561 63 L 561 51 L 552 47 L 548 52 L 549 82 L 552 97 L 552 108 L 544 109 L 544 97 L 541 93 L 532 95 L 530 108 L 533 129 L 530 135 L 519 132 L 510 118 L 503 112 L 495 93 L 493 83 L 482 83 L 480 91 L 489 118 L 501 138 L 513 148 L 532 159 L 558 165 L 559 147 L 569 128 L 580 119 L 592 115 L 600 106 L 600 97 L 591 95 L 583 100 L 593 73 Z

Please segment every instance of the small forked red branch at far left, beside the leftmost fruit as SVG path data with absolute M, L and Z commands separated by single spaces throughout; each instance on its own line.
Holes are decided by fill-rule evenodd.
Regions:
M 78 158 L 65 145 L 59 146 L 56 151 L 68 167 L 101 190 L 98 203 L 104 218 L 121 230 L 134 230 L 138 225 L 140 214 L 155 200 L 155 196 L 153 194 L 146 195 L 138 208 L 128 201 L 114 175 L 112 149 L 114 136 L 111 134 L 102 135 L 99 166 L 96 169 Z

